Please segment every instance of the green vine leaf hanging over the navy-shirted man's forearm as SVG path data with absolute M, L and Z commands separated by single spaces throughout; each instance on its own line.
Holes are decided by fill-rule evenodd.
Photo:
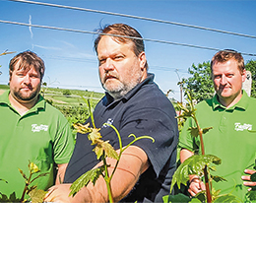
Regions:
M 70 189 L 71 192 L 69 196 L 75 196 L 83 187 L 87 186 L 90 181 L 96 185 L 96 180 L 98 179 L 99 175 L 103 176 L 104 166 L 100 166 L 96 169 L 91 169 L 87 171 L 85 174 L 81 175 L 77 180 L 75 180 Z

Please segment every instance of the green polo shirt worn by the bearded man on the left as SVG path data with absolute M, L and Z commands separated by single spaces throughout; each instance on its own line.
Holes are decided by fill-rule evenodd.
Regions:
M 0 96 L 0 192 L 22 196 L 25 180 L 19 168 L 29 175 L 29 161 L 48 175 L 32 184 L 46 190 L 55 183 L 56 164 L 69 162 L 73 153 L 70 125 L 63 114 L 42 96 L 21 116 L 10 104 L 9 93 Z

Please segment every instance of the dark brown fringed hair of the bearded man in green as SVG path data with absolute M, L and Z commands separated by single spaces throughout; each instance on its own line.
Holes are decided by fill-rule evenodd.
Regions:
M 24 51 L 16 55 L 14 58 L 11 59 L 9 64 L 9 75 L 10 79 L 13 75 L 13 71 L 15 69 L 16 64 L 19 63 L 18 70 L 24 69 L 27 70 L 29 68 L 34 68 L 37 72 L 40 74 L 40 80 L 42 80 L 44 75 L 44 62 L 43 60 L 38 57 L 34 52 L 32 51 Z

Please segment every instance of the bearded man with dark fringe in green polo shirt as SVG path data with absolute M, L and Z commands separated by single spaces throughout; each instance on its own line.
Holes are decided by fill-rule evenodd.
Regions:
M 0 178 L 8 183 L 1 182 L 0 192 L 19 198 L 25 187 L 19 168 L 28 176 L 31 161 L 48 172 L 32 183 L 47 190 L 63 180 L 74 143 L 66 118 L 39 95 L 43 61 L 26 51 L 9 68 L 10 91 L 0 96 Z

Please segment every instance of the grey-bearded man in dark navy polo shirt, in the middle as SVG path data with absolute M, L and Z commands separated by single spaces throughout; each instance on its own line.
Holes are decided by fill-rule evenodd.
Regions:
M 96 38 L 95 48 L 99 78 L 106 95 L 96 105 L 94 117 L 102 139 L 109 140 L 118 151 L 117 136 L 104 123 L 118 129 L 123 146 L 133 140 L 128 137 L 130 134 L 155 139 L 155 143 L 149 139 L 139 140 L 124 151 L 111 181 L 114 201 L 162 202 L 162 196 L 169 193 L 175 171 L 178 142 L 175 110 L 154 83 L 154 75 L 148 73 L 144 42 L 134 38 L 142 38 L 140 33 L 123 24 L 108 26 L 101 32 Z M 88 136 L 78 134 L 65 184 L 50 188 L 45 201 L 108 202 L 103 178 L 99 178 L 95 186 L 89 183 L 75 197 L 68 197 L 70 183 L 101 165 L 93 149 Z M 111 166 L 115 161 L 107 159 Z

